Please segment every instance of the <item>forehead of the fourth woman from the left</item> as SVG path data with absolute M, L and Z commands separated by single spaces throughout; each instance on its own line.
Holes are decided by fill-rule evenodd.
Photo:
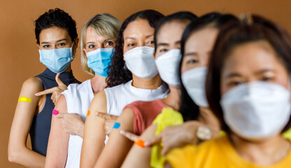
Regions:
M 180 41 L 184 29 L 189 22 L 172 21 L 167 22 L 159 28 L 157 43 L 159 41 Z

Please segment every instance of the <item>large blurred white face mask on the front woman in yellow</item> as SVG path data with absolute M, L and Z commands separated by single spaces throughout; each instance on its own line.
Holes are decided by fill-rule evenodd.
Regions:
M 225 123 L 245 139 L 279 134 L 290 119 L 290 91 L 267 82 L 241 84 L 222 96 Z

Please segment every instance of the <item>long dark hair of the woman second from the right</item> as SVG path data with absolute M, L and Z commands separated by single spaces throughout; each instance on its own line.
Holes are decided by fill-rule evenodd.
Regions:
M 228 22 L 237 21 L 238 19 L 231 14 L 222 15 L 220 13 L 208 13 L 206 15 L 202 15 L 201 18 L 191 22 L 185 29 L 182 40 L 181 40 L 181 54 L 182 59 L 180 60 L 180 68 L 179 68 L 179 76 L 180 76 L 180 89 L 181 89 L 181 99 L 180 99 L 180 113 L 182 114 L 185 121 L 187 120 L 197 120 L 199 116 L 199 106 L 193 102 L 185 86 L 183 85 L 181 78 L 181 67 L 184 59 L 185 52 L 185 43 L 187 43 L 187 39 L 191 36 L 195 31 L 199 31 L 200 29 L 204 29 L 205 27 L 214 27 L 216 29 L 221 29 Z

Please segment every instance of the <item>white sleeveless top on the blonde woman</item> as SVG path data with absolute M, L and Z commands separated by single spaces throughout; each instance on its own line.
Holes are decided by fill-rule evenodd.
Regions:
M 78 113 L 85 122 L 90 102 L 94 97 L 91 80 L 85 80 L 81 84 L 71 84 L 68 90 L 65 90 L 62 94 L 66 97 L 68 113 Z M 81 137 L 70 134 L 66 167 L 80 167 L 82 143 L 83 139 Z

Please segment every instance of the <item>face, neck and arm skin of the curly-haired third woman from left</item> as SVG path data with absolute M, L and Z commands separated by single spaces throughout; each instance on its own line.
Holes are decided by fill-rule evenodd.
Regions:
M 123 53 L 135 47 L 149 46 L 154 47 L 153 44 L 154 28 L 150 27 L 147 20 L 134 20 L 127 25 L 123 32 L 124 41 Z M 132 76 L 134 87 L 155 90 L 162 85 L 162 80 L 159 75 L 150 78 L 142 79 L 137 76 Z M 95 95 L 92 100 L 89 110 L 90 116 L 87 116 L 85 122 L 84 141 L 81 152 L 80 167 L 94 167 L 101 151 L 104 148 L 105 120 L 94 113 L 107 113 L 107 101 L 104 91 Z M 110 162 L 115 162 L 111 160 Z M 107 167 L 102 165 L 101 167 Z

